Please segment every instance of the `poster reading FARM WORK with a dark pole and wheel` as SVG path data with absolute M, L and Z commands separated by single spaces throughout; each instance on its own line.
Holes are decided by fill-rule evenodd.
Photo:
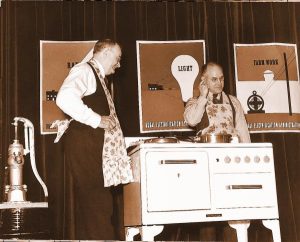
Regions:
M 251 133 L 300 132 L 297 46 L 234 44 L 236 92 Z

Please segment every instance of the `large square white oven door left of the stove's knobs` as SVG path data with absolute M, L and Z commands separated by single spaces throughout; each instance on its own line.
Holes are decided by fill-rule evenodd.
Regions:
M 153 151 L 145 158 L 149 212 L 211 207 L 206 152 Z

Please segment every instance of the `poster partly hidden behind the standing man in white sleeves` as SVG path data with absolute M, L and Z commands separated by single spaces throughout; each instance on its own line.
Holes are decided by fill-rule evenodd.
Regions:
M 88 61 L 96 41 L 40 41 L 40 125 L 41 134 L 56 133 L 55 120 L 66 119 L 56 106 L 57 92 L 77 63 Z

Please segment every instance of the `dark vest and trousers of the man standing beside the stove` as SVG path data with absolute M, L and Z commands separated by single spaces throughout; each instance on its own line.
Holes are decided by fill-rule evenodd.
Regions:
M 91 67 L 92 68 L 92 67 Z M 109 115 L 106 95 L 97 82 L 96 92 L 83 102 L 100 115 Z M 112 225 L 113 201 L 110 188 L 104 187 L 102 148 L 104 129 L 72 121 L 64 137 L 67 172 L 75 188 L 75 238 L 77 240 L 115 239 Z

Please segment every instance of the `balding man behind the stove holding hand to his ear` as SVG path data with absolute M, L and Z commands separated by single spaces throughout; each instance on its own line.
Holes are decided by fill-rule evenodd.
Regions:
M 197 135 L 231 135 L 242 143 L 250 143 L 250 135 L 239 100 L 223 92 L 222 67 L 208 62 L 201 70 L 200 95 L 187 101 L 185 121 L 196 127 Z

